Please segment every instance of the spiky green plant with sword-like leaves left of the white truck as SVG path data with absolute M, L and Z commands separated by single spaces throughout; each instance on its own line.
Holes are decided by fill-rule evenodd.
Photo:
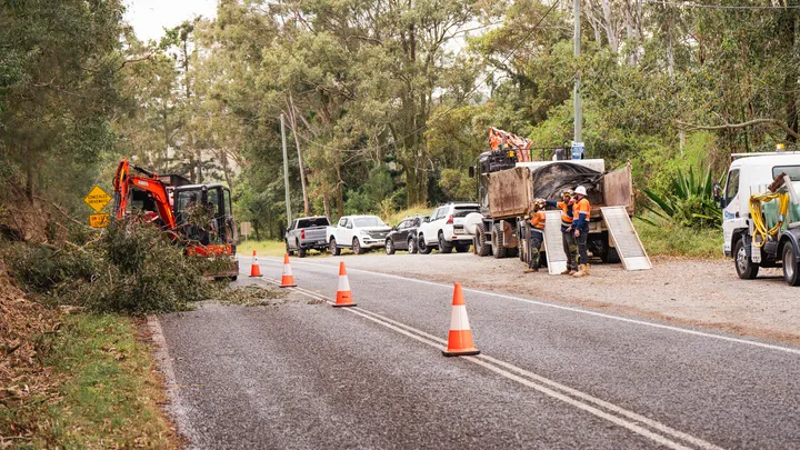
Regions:
M 648 209 L 678 226 L 689 228 L 722 226 L 722 210 L 713 199 L 713 177 L 710 168 L 706 170 L 703 177 L 694 177 L 694 170 L 691 168 L 688 177 L 682 171 L 678 171 L 668 192 L 658 194 L 644 189 L 644 194 L 657 207 Z M 647 219 L 642 220 L 649 222 Z

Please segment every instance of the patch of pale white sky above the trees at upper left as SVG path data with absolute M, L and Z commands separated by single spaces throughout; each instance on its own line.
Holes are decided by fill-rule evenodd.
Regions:
M 217 17 L 217 0 L 127 0 L 126 20 L 142 41 L 158 41 L 163 29 L 197 16 Z

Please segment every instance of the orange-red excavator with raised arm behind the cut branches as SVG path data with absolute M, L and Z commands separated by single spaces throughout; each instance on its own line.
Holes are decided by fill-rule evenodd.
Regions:
M 113 186 L 116 219 L 139 213 L 167 231 L 173 241 L 183 242 L 187 256 L 229 259 L 230 269 L 209 276 L 236 280 L 239 262 L 234 259 L 236 221 L 230 189 L 219 183 L 192 184 L 178 174 L 158 176 L 127 159 L 117 167 Z M 203 223 L 198 223 L 198 218 Z

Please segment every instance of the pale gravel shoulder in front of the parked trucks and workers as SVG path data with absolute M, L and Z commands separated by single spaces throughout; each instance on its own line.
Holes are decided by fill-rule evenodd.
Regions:
M 353 269 L 460 282 L 800 346 L 800 288 L 786 284 L 780 269 L 762 269 L 758 279 L 741 280 L 732 261 L 656 258 L 652 270 L 629 272 L 622 264 L 597 263 L 591 277 L 574 279 L 550 276 L 547 269 L 523 274 L 519 259 L 469 253 L 344 258 Z

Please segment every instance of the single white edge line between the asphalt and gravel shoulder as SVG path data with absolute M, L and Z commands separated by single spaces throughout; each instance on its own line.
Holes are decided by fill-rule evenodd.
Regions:
M 269 262 L 277 262 L 277 261 L 269 261 Z M 283 261 L 281 260 L 280 263 L 283 263 Z M 313 263 L 313 262 L 299 262 L 299 261 L 296 262 L 296 263 L 298 263 L 298 264 L 306 264 L 306 266 L 323 267 L 323 268 L 327 268 L 327 269 L 338 270 L 337 267 L 328 266 L 328 264 L 320 264 L 320 263 Z M 351 271 L 351 272 L 363 272 L 363 273 L 369 273 L 369 274 L 374 274 L 374 276 L 380 276 L 380 277 L 393 278 L 393 279 L 397 279 L 397 280 L 413 281 L 413 282 L 422 283 L 422 284 L 430 284 L 430 286 L 438 286 L 438 287 L 443 287 L 443 288 L 451 288 L 450 284 L 446 284 L 446 283 L 439 283 L 439 282 L 426 281 L 426 280 L 417 280 L 417 279 L 413 279 L 413 278 L 407 278 L 407 277 L 401 277 L 401 276 L 396 276 L 396 274 L 390 274 L 390 273 L 373 272 L 373 271 L 363 270 L 363 269 L 351 269 L 351 268 L 348 268 L 348 271 Z M 483 294 L 483 296 L 490 296 L 490 297 L 496 297 L 496 298 L 501 298 L 501 299 L 507 299 L 507 300 L 516 300 L 516 301 L 521 301 L 521 302 L 526 302 L 526 303 L 532 303 L 532 304 L 537 304 L 537 306 L 540 306 L 540 307 L 547 307 L 547 308 L 560 309 L 560 310 L 564 310 L 564 311 L 579 312 L 579 313 L 582 313 L 582 314 L 601 317 L 601 318 L 603 318 L 603 319 L 612 319 L 612 320 L 619 320 L 619 321 L 622 321 L 622 322 L 634 323 L 634 324 L 639 324 L 639 326 L 659 328 L 659 329 L 662 329 L 662 330 L 677 331 L 677 332 L 681 332 L 681 333 L 686 333 L 686 334 L 700 336 L 700 337 L 703 337 L 703 338 L 718 339 L 718 340 L 728 341 L 728 342 L 743 343 L 743 344 L 746 344 L 746 346 L 760 347 L 760 348 L 769 349 L 769 350 L 783 351 L 783 352 L 792 353 L 792 354 L 800 354 L 800 349 L 792 349 L 792 348 L 776 346 L 776 344 L 771 344 L 771 343 L 764 343 L 764 342 L 751 341 L 751 340 L 747 340 L 747 339 L 732 338 L 732 337 L 729 337 L 729 336 L 712 334 L 712 333 L 709 333 L 709 332 L 690 330 L 690 329 L 679 328 L 679 327 L 673 327 L 673 326 L 668 326 L 668 324 L 663 324 L 663 323 L 647 322 L 647 321 L 643 321 L 643 320 L 637 320 L 637 319 L 629 319 L 629 318 L 624 318 L 624 317 L 611 316 L 611 314 L 607 314 L 607 313 L 603 313 L 603 312 L 588 311 L 588 310 L 583 310 L 583 309 L 579 309 L 579 308 L 564 307 L 564 306 L 561 306 L 561 304 L 552 304 L 552 303 L 547 303 L 547 302 L 538 301 L 538 300 L 531 300 L 531 299 L 524 299 L 524 298 L 520 298 L 520 297 L 507 296 L 507 294 L 503 294 L 503 293 L 481 291 L 481 290 L 478 290 L 478 289 L 463 288 L 463 291 L 464 291 L 464 292 L 480 293 L 480 294 Z

